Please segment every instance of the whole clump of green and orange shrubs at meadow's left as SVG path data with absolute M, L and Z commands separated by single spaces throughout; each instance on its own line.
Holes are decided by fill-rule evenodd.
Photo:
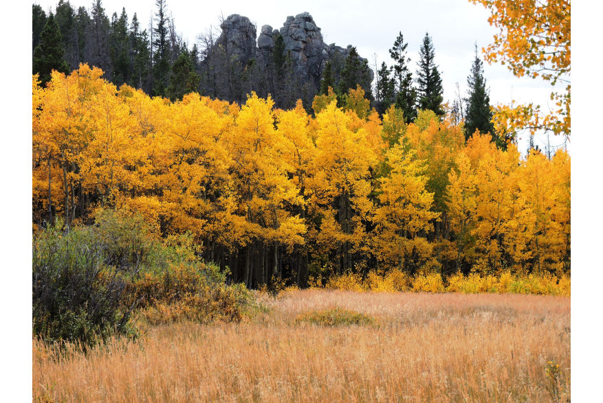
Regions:
M 77 341 L 136 336 L 150 324 L 241 321 L 250 293 L 199 260 L 190 234 L 160 240 L 139 216 L 99 211 L 96 224 L 32 237 L 32 335 Z

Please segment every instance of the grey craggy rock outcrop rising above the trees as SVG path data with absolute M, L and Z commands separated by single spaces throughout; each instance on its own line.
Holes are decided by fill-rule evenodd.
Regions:
M 221 28 L 223 38 L 227 38 L 232 54 L 242 62 L 256 58 L 264 66 L 270 64 L 276 36 L 281 34 L 285 41 L 285 51 L 292 58 L 295 76 L 301 84 L 311 83 L 315 87 L 318 87 L 327 60 L 331 60 L 333 72 L 338 80 L 339 71 L 351 49 L 351 45 L 343 48 L 334 43 L 330 45 L 324 43 L 320 28 L 308 12 L 287 16 L 280 30 L 273 30 L 270 25 L 263 25 L 257 44 L 256 26 L 245 16 L 232 14 L 222 23 Z M 371 81 L 372 78 L 371 70 Z

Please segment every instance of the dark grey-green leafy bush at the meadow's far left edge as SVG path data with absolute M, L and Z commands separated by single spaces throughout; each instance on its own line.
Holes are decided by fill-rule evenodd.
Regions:
M 44 231 L 32 239 L 32 333 L 91 345 L 134 335 L 127 282 L 106 264 L 107 244 L 91 229 Z

